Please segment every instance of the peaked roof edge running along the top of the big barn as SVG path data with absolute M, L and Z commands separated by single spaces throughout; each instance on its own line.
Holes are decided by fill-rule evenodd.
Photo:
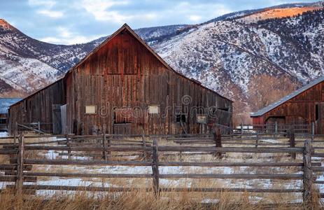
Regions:
M 129 25 L 127 25 L 127 23 L 125 23 L 124 25 L 122 25 L 122 27 L 120 27 L 117 31 L 115 31 L 113 34 L 111 34 L 111 36 L 108 36 L 102 43 L 100 43 L 96 48 L 94 48 L 92 51 L 90 51 L 89 53 L 87 53 L 87 55 L 85 55 L 85 57 L 83 57 L 83 59 L 80 59 L 80 61 L 75 64 L 74 66 L 72 66 L 68 71 L 66 71 L 66 73 L 64 73 L 63 76 L 60 76 L 59 78 L 57 78 L 57 80 L 53 83 L 50 83 L 48 85 L 46 85 L 45 87 L 42 87 L 39 90 L 36 90 L 35 92 L 32 92 L 31 94 L 29 94 L 27 97 L 22 98 L 22 100 L 27 99 L 31 96 L 33 96 L 34 94 L 36 94 L 37 92 L 40 92 L 41 90 L 44 90 L 47 87 L 50 87 L 51 85 L 57 83 L 59 80 L 62 80 L 63 78 L 65 78 L 68 73 L 70 73 L 71 71 L 73 71 L 74 69 L 78 68 L 78 66 L 80 66 L 80 64 L 83 64 L 83 62 L 85 62 L 85 60 L 87 60 L 91 55 L 93 55 L 95 52 L 97 52 L 97 50 L 99 50 L 102 46 L 104 46 L 106 43 L 108 43 L 108 41 L 111 41 L 111 39 L 115 36 L 117 36 L 118 34 L 120 34 L 121 31 L 123 31 L 124 29 L 127 29 L 127 31 L 129 31 L 140 43 L 142 43 L 155 57 L 157 57 L 157 59 L 160 60 L 160 62 L 162 62 L 162 64 L 164 64 L 164 66 L 167 67 L 167 69 L 169 69 L 170 71 L 174 71 L 174 73 L 177 73 L 179 76 L 182 76 L 194 83 L 197 83 L 196 80 L 194 79 L 190 79 L 186 76 L 184 76 L 182 73 L 179 73 L 178 71 L 174 70 L 171 66 L 169 66 L 169 64 L 167 64 L 167 62 L 164 61 L 164 59 L 162 59 L 162 57 L 160 57 L 160 55 L 157 54 L 157 52 L 155 52 L 155 50 L 153 50 L 152 48 L 150 48 L 150 46 L 143 41 L 143 39 L 141 37 L 139 37 L 139 35 L 136 34 L 136 32 L 129 27 Z M 205 87 L 204 85 L 201 85 L 199 83 L 197 83 L 197 85 L 199 85 L 200 87 L 203 87 L 206 90 L 209 90 L 215 94 L 218 94 L 220 97 L 223 97 L 224 99 L 229 100 L 230 102 L 233 102 L 231 99 L 228 99 L 227 97 L 224 97 L 223 95 L 219 94 L 218 92 L 209 89 L 209 87 Z M 21 100 L 21 101 L 22 101 Z M 16 102 L 15 104 L 18 104 L 19 102 Z M 12 104 L 11 106 L 14 106 L 15 104 Z M 10 106 L 10 107 L 11 107 Z

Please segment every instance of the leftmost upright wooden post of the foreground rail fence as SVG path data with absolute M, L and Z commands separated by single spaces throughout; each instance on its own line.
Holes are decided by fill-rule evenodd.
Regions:
M 17 179 L 15 183 L 15 193 L 18 196 L 22 195 L 22 185 L 23 185 L 23 179 L 24 174 L 22 173 L 24 171 L 24 135 L 20 134 L 20 137 L 18 139 L 19 145 L 18 145 L 18 157 L 17 157 Z

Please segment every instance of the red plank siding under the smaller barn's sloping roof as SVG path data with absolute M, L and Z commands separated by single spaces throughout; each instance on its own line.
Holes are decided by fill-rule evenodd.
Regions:
M 318 120 L 316 120 L 316 104 L 318 104 Z M 263 116 L 253 118 L 255 124 L 265 124 L 269 118 L 284 117 L 286 125 L 301 125 L 316 122 L 316 133 L 324 131 L 324 82 L 298 94 L 293 99 L 277 106 Z

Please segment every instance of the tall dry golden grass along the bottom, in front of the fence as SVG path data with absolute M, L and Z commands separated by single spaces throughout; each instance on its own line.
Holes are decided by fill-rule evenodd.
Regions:
M 57 193 L 51 197 L 24 195 L 21 199 L 3 193 L 0 195 L 0 209 L 304 209 L 303 204 L 266 204 L 263 200 L 253 202 L 249 193 L 205 194 L 161 193 L 160 198 L 156 198 L 152 192 L 139 190 L 132 193 Z M 320 208 L 314 206 L 314 209 Z

